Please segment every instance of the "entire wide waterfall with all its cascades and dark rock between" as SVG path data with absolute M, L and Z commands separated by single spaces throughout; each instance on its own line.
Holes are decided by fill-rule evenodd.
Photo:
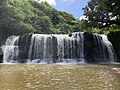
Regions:
M 86 63 L 114 62 L 107 36 L 76 32 L 71 35 L 11 36 L 2 47 L 4 63 Z M 21 61 L 21 59 L 23 59 Z

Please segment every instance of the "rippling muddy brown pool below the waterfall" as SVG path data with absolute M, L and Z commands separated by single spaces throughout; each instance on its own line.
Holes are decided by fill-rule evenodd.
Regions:
M 0 90 L 120 90 L 113 65 L 0 65 Z

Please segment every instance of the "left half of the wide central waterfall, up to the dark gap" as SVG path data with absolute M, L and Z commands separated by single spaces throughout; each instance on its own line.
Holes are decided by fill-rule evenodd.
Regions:
M 29 62 L 52 62 L 53 47 L 52 36 L 43 34 L 34 34 L 31 38 L 31 45 L 28 52 Z

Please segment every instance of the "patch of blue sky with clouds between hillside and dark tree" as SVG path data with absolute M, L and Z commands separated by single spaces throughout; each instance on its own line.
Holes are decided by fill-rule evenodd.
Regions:
M 89 0 L 38 0 L 47 1 L 50 5 L 60 11 L 71 13 L 74 17 L 80 19 L 83 16 L 82 8 L 87 5 Z

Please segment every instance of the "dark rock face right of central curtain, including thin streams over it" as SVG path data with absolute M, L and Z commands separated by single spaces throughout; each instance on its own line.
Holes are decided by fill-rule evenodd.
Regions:
M 115 58 L 114 52 L 110 52 L 110 42 L 105 35 L 84 33 L 84 55 L 87 62 L 107 62 Z M 113 57 L 110 57 L 113 55 Z

